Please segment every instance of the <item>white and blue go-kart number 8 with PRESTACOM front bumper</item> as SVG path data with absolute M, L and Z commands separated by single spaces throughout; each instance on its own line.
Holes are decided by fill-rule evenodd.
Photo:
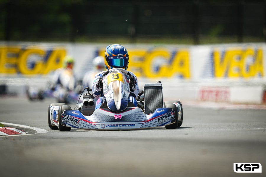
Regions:
M 165 126 L 180 127 L 183 108 L 180 101 L 163 101 L 162 83 L 144 84 L 137 99 L 137 107 L 129 102 L 131 74 L 113 68 L 102 76 L 103 95 L 106 103 L 95 109 L 92 90 L 81 94 L 83 101 L 74 110 L 65 103 L 48 106 L 48 126 L 52 130 L 70 131 L 71 128 L 88 130 L 132 130 Z M 85 91 L 85 89 L 84 89 Z

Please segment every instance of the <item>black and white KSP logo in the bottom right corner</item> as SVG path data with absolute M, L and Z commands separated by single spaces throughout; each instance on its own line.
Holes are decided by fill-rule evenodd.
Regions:
M 262 173 L 260 163 L 234 163 L 236 173 Z

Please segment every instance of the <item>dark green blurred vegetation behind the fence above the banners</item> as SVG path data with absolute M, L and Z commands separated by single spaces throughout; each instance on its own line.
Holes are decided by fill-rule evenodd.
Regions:
M 0 40 L 264 42 L 264 0 L 0 0 Z

